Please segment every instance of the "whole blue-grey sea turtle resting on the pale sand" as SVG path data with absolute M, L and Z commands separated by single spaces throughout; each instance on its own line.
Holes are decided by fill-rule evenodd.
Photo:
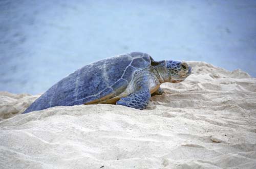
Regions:
M 164 82 L 183 81 L 191 73 L 185 62 L 156 62 L 147 53 L 131 52 L 86 65 L 36 99 L 27 112 L 54 106 L 108 103 L 144 109 Z

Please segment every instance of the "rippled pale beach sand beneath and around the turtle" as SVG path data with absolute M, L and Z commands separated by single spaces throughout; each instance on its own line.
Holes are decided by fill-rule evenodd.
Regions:
M 39 95 L 0 93 L 0 168 L 256 168 L 256 78 L 189 64 L 194 74 L 162 85 L 145 110 L 17 115 Z

